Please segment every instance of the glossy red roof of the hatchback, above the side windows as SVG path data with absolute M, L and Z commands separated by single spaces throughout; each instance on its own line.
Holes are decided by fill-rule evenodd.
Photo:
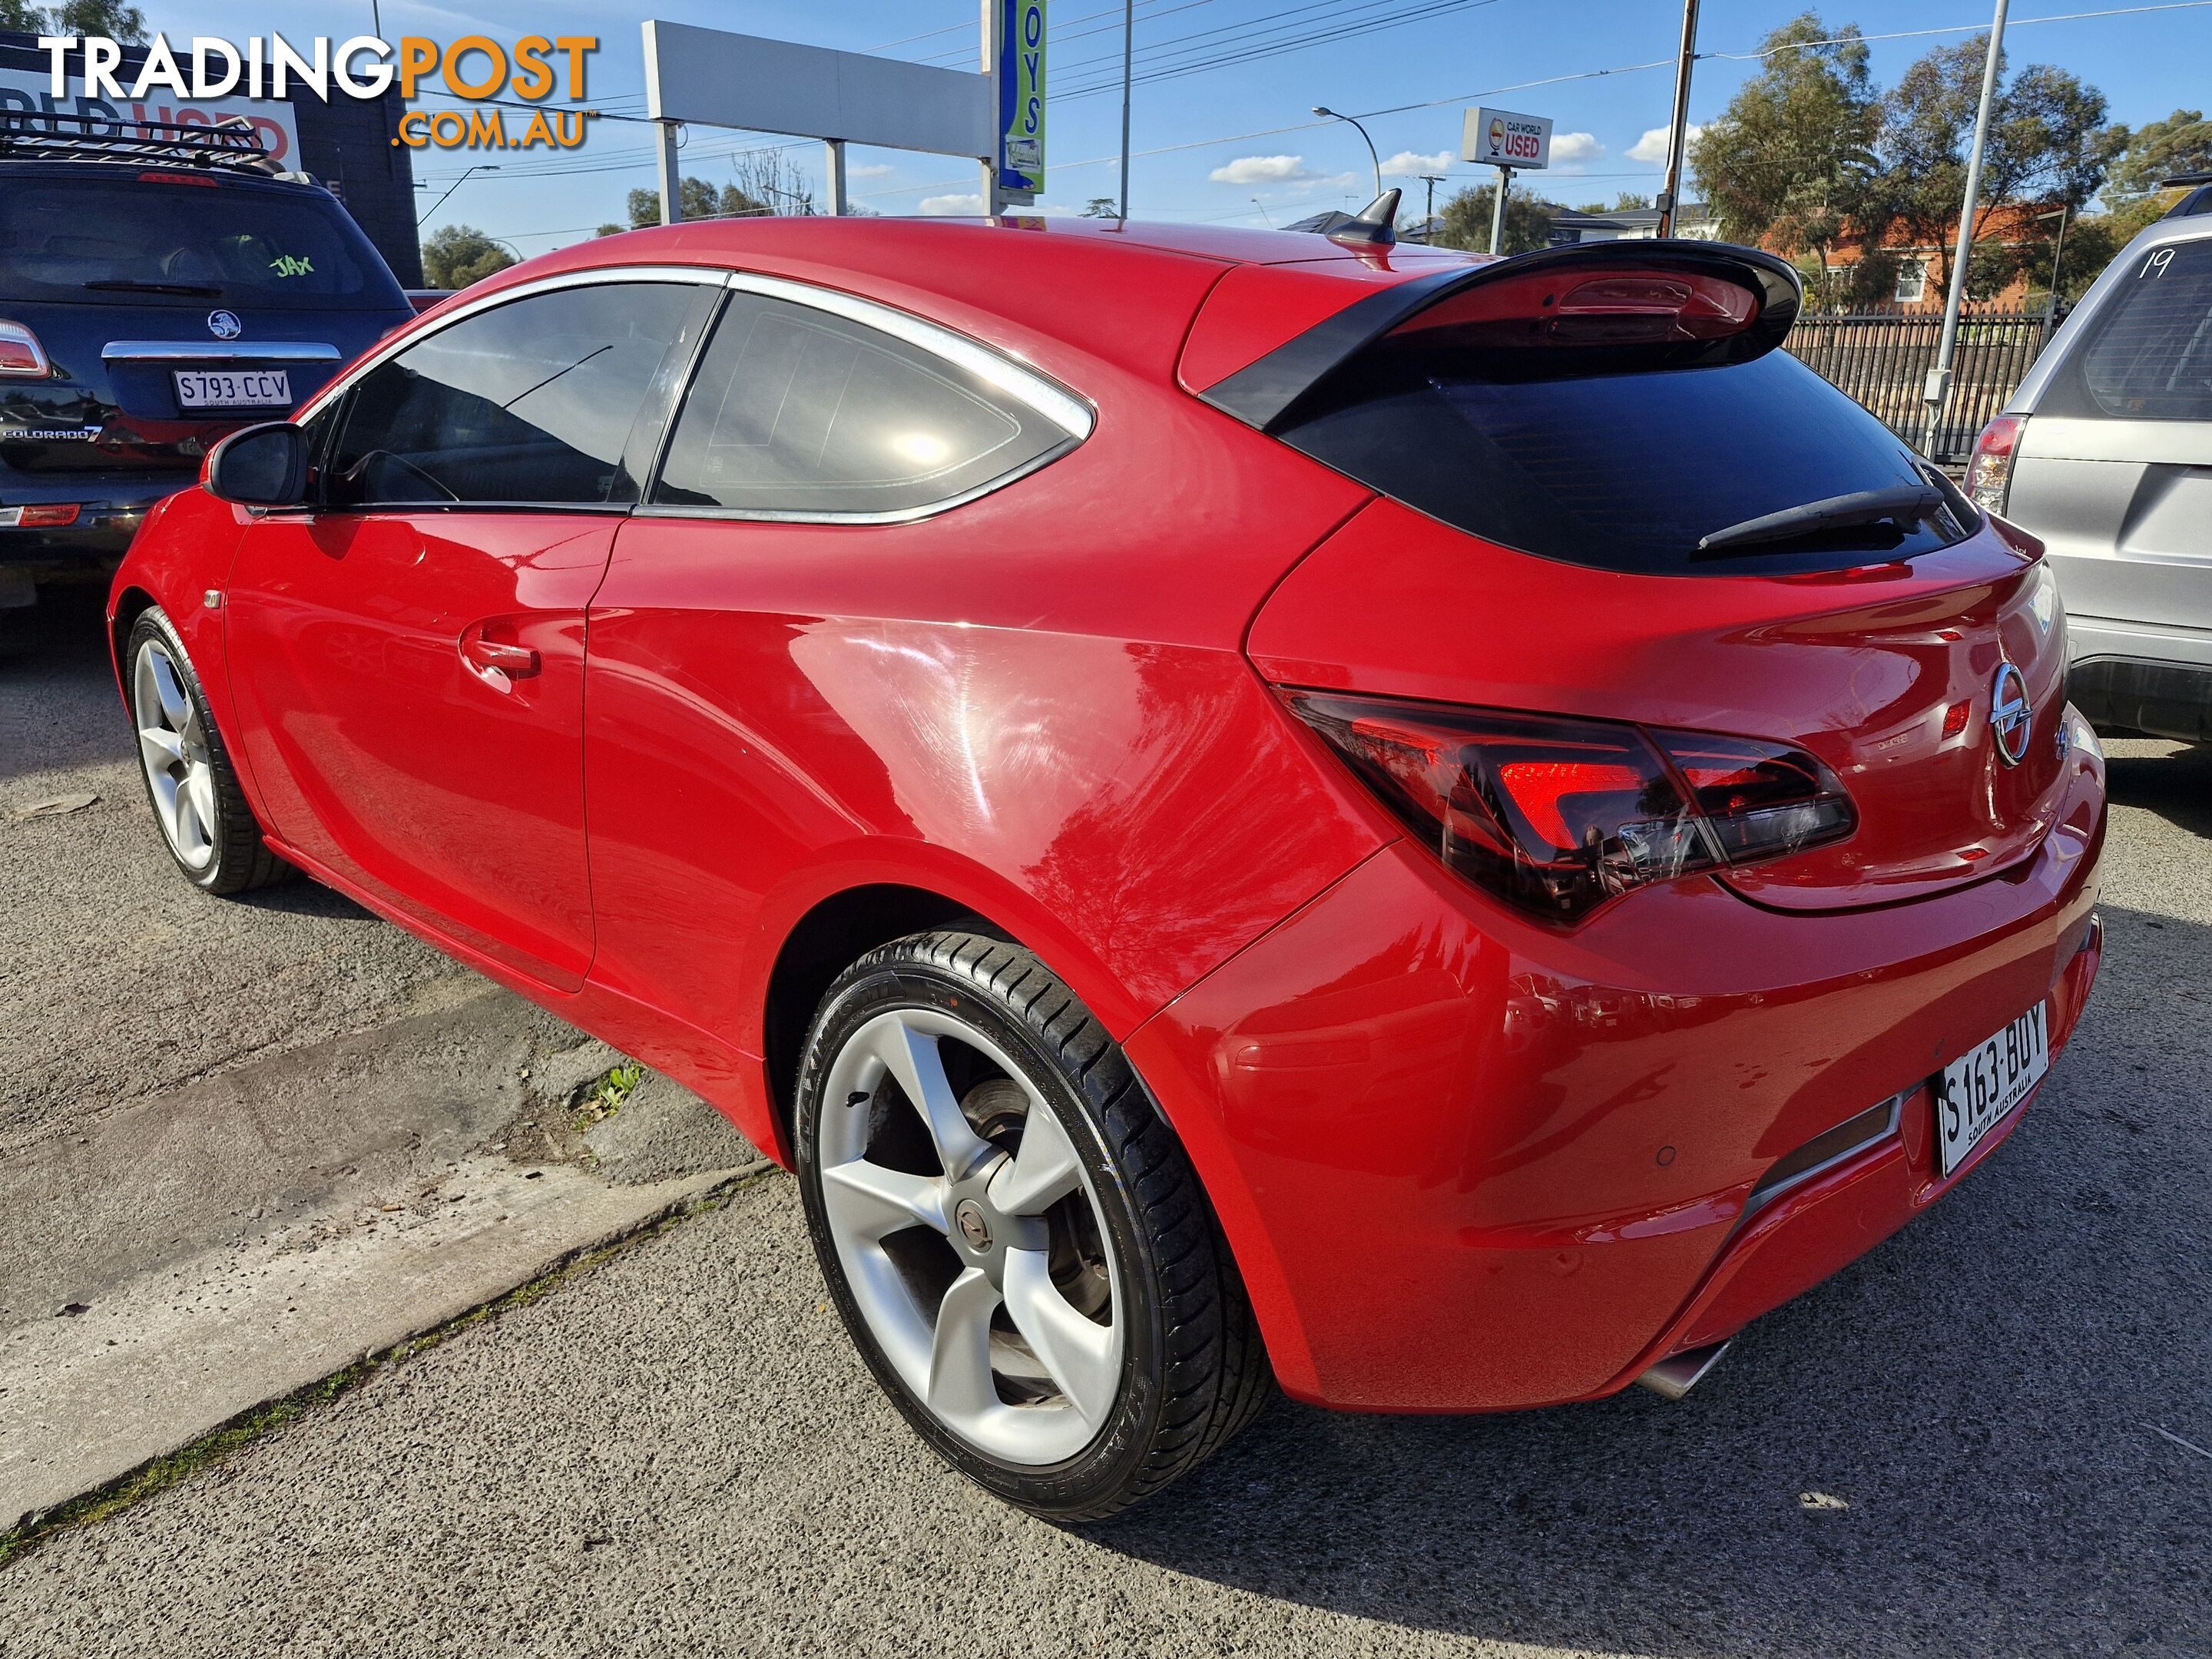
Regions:
M 717 265 L 856 292 L 1011 349 L 1048 338 L 1126 358 L 1133 334 L 1179 343 L 1206 294 L 1239 265 L 1340 279 L 1349 303 L 1374 285 L 1471 259 L 1451 248 L 1347 248 L 1310 232 L 1141 219 L 779 215 L 571 243 L 465 292 L 473 301 L 540 276 L 622 265 Z

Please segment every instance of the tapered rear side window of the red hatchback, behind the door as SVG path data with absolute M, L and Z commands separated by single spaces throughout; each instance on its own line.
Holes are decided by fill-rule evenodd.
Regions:
M 661 507 L 905 513 L 1024 469 L 1068 434 L 863 323 L 730 294 L 653 491 Z

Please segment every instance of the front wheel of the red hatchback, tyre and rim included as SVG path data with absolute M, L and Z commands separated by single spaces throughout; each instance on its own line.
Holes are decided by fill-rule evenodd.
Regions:
M 139 781 L 184 878 L 210 894 L 243 894 L 290 876 L 292 867 L 261 838 L 192 657 L 159 606 L 131 624 L 124 690 L 139 739 Z

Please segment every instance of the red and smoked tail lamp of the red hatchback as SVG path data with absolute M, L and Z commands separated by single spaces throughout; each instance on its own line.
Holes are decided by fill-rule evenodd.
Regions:
M 1785 858 L 1858 827 L 1836 776 L 1785 743 L 1303 690 L 1283 699 L 1451 869 L 1555 922 L 1646 883 Z

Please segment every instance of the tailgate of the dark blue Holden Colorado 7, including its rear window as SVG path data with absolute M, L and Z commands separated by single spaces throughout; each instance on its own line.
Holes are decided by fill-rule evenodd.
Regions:
M 0 168 L 0 462 L 20 473 L 188 471 L 409 316 L 325 190 L 188 168 Z M 188 403 L 195 392 L 212 400 Z

